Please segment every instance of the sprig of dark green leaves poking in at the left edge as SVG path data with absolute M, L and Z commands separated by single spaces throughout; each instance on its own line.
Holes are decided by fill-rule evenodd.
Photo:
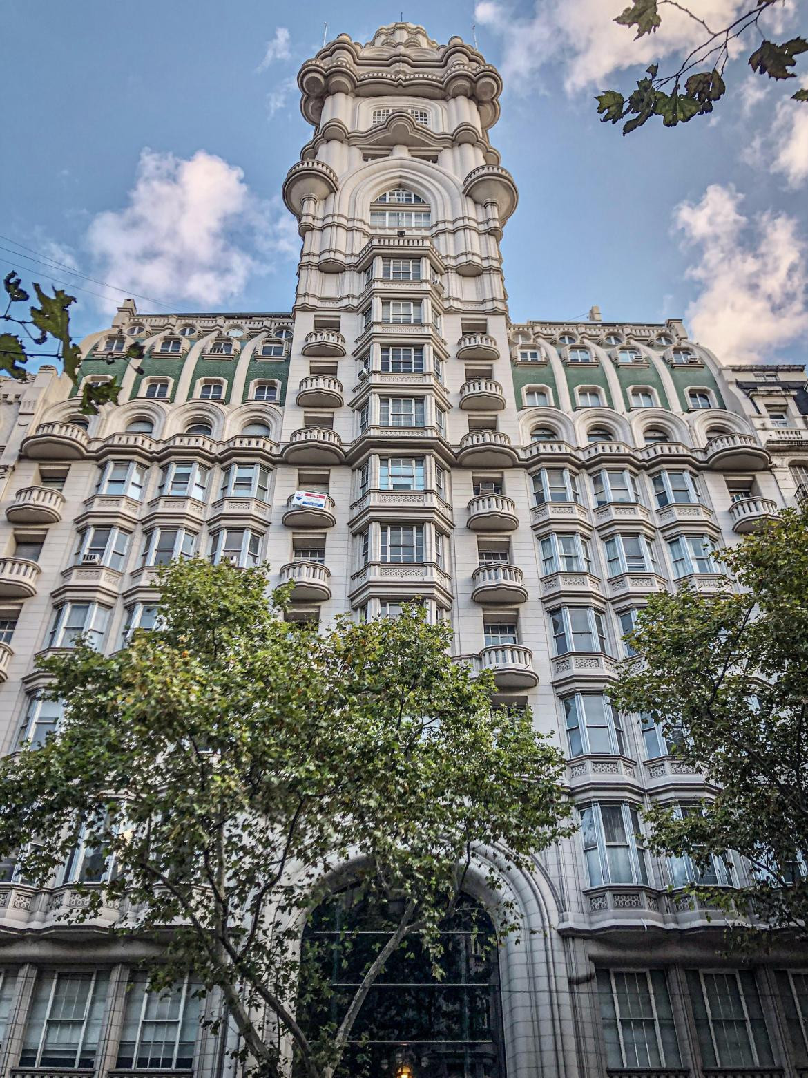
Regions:
M 61 361 L 65 374 L 74 386 L 79 385 L 81 350 L 70 335 L 70 307 L 75 303 L 74 295 L 68 295 L 60 288 L 53 289 L 53 295 L 42 289 L 36 281 L 33 291 L 39 306 L 29 308 L 30 318 L 17 318 L 12 315 L 16 304 L 26 303 L 30 295 L 22 287 L 22 278 L 14 271 L 6 274 L 3 287 L 8 296 L 2 320 L 17 327 L 16 333 L 0 333 L 0 372 L 8 377 L 25 382 L 29 375 L 26 363 L 43 356 Z M 38 332 L 34 333 L 33 330 Z M 24 340 L 24 337 L 26 340 Z M 40 348 L 48 341 L 56 347 L 54 353 L 31 350 Z M 129 345 L 125 353 L 126 359 L 138 361 L 143 357 L 143 346 L 137 341 Z M 142 370 L 138 369 L 142 374 Z M 82 389 L 80 410 L 84 415 L 96 415 L 101 404 L 117 403 L 121 385 L 116 379 L 103 382 L 100 385 L 87 383 Z

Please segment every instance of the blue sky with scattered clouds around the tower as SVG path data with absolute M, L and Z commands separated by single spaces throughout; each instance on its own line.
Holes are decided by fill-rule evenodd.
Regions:
M 26 247 L 172 309 L 284 310 L 297 237 L 279 199 L 310 128 L 292 80 L 342 31 L 399 17 L 367 2 L 109 0 L 15 5 L 4 26 L 2 247 Z M 441 42 L 477 41 L 505 78 L 491 141 L 519 188 L 503 254 L 511 316 L 685 317 L 725 359 L 808 360 L 808 105 L 727 72 L 714 119 L 624 138 L 593 95 L 663 66 L 691 32 L 632 42 L 621 0 L 410 2 Z M 739 0 L 694 0 L 722 17 Z M 614 11 L 612 11 L 614 9 Z M 669 16 L 665 15 L 665 19 Z M 777 15 L 792 33 L 794 12 Z M 805 30 L 805 27 L 802 27 Z M 751 47 L 751 46 L 750 46 Z M 808 71 L 808 63 L 803 65 Z M 789 92 L 799 82 L 793 80 Z M 802 112 L 800 112 L 802 110 Z M 8 239 L 13 244 L 8 243 Z M 2 270 L 72 282 L 76 330 L 123 293 L 0 250 Z M 37 258 L 38 255 L 31 255 Z M 164 309 L 138 300 L 141 309 Z

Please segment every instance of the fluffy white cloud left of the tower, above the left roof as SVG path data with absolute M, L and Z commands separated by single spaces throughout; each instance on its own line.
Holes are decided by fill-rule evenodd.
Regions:
M 257 198 L 243 172 L 197 151 L 183 160 L 143 150 L 128 205 L 87 230 L 93 275 L 169 304 L 213 308 L 237 296 L 277 257 L 294 257 L 294 222 L 279 199 Z

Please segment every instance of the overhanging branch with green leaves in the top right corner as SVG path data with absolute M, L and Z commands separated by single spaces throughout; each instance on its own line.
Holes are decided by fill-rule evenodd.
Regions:
M 713 106 L 726 93 L 724 71 L 729 59 L 730 43 L 747 31 L 757 29 L 760 19 L 779 0 L 756 0 L 734 20 L 714 29 L 678 0 L 632 0 L 615 19 L 619 26 L 637 29 L 636 38 L 655 33 L 661 25 L 660 9 L 666 4 L 684 12 L 705 30 L 705 40 L 683 59 L 679 69 L 659 74 L 659 65 L 652 64 L 636 88 L 624 97 L 619 91 L 607 89 L 597 95 L 598 112 L 603 123 L 623 124 L 623 134 L 637 130 L 652 116 L 659 116 L 666 127 L 687 123 L 694 116 L 712 112 Z M 808 52 L 808 41 L 791 38 L 777 43 L 764 38 L 749 56 L 753 71 L 769 79 L 794 79 L 792 68 L 802 53 Z M 795 101 L 808 102 L 808 89 L 792 94 Z

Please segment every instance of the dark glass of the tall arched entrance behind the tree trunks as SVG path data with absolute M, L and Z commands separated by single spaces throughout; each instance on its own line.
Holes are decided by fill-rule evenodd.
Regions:
M 316 964 L 333 995 L 302 1008 L 305 1029 L 322 1034 L 342 1021 L 363 970 L 400 915 L 392 904 L 368 901 L 359 887 L 315 910 L 304 934 L 304 977 L 307 963 Z M 463 896 L 441 936 L 443 979 L 433 976 L 417 937 L 393 953 L 362 1006 L 337 1078 L 395 1078 L 403 1063 L 413 1078 L 505 1078 L 493 924 Z

